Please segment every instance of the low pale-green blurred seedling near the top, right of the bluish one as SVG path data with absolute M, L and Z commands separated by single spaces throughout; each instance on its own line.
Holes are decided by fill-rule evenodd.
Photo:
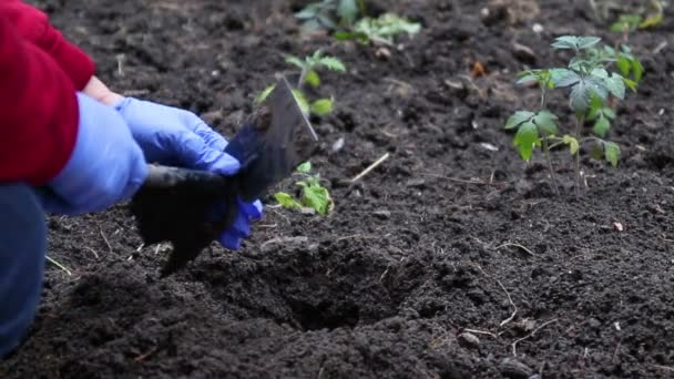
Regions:
M 419 23 L 410 22 L 394 13 L 385 13 L 376 19 L 362 18 L 353 28 L 337 31 L 335 38 L 338 41 L 354 40 L 362 44 L 394 45 L 398 34 L 413 35 L 420 30 Z

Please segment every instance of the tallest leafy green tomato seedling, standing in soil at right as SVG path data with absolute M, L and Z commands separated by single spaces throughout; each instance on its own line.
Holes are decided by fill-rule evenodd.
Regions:
M 615 106 L 624 100 L 625 89 L 636 92 L 644 69 L 631 50 L 599 45 L 598 37 L 564 35 L 555 39 L 552 48 L 574 53 L 566 68 L 528 70 L 520 73 L 518 84 L 534 82 L 541 95 L 538 109 L 521 110 L 506 122 L 507 130 L 517 130 L 513 144 L 524 161 L 531 160 L 540 147 L 543 152 L 555 193 L 559 193 L 551 150 L 565 145 L 574 157 L 576 193 L 581 188 L 580 154 L 584 144 L 592 144 L 591 153 L 617 166 L 620 146 L 606 140 L 611 123 L 615 120 Z M 611 69 L 615 66 L 619 72 Z M 574 125 L 570 133 L 561 133 L 560 117 L 548 109 L 548 94 L 555 89 L 570 89 L 569 107 Z M 592 133 L 584 134 L 584 125 L 592 122 Z

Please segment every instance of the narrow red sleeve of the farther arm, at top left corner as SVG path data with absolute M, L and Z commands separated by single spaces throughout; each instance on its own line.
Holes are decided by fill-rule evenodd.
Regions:
M 23 39 L 44 50 L 70 76 L 75 89 L 84 89 L 95 71 L 93 61 L 64 39 L 49 23 L 47 14 L 20 0 L 0 0 L 0 13 Z

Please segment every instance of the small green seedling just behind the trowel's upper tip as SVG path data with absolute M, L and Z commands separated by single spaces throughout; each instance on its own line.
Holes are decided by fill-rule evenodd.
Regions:
M 320 76 L 318 74 L 319 70 L 330 70 L 337 72 L 345 72 L 345 64 L 336 57 L 324 55 L 320 50 L 314 52 L 312 55 L 307 55 L 304 59 L 288 55 L 286 57 L 286 62 L 292 64 L 293 66 L 299 69 L 299 79 L 297 81 L 297 86 L 293 90 L 293 94 L 297 99 L 302 111 L 305 114 L 315 114 L 318 116 L 324 116 L 333 112 L 335 100 L 333 98 L 321 98 L 317 100 L 309 100 L 307 93 L 303 90 L 305 84 L 310 85 L 314 89 L 318 89 L 320 86 Z M 267 86 L 257 98 L 255 99 L 256 104 L 261 104 L 267 99 L 269 93 L 274 90 L 275 85 Z

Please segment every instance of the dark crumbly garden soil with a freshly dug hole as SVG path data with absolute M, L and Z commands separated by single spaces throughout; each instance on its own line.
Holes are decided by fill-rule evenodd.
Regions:
M 401 51 L 328 48 L 349 68 L 325 75 L 338 109 L 315 120 L 328 217 L 269 198 L 244 248 L 214 245 L 165 279 L 168 250 L 140 248 L 124 206 L 52 217 L 49 255 L 72 276 L 48 268 L 30 337 L 0 377 L 674 376 L 674 14 L 632 37 L 647 75 L 612 131 L 621 165 L 583 160 L 589 188 L 576 198 L 565 152 L 554 196 L 543 161 L 512 148 L 504 119 L 537 101 L 512 82 L 563 64 L 548 48 L 556 35 L 617 37 L 585 1 L 539 3 L 481 18 L 484 1 L 391 1 L 425 25 Z M 297 37 L 290 1 L 40 4 L 115 90 L 188 107 L 226 135 L 286 69 L 283 54 L 329 44 Z M 469 80 L 474 62 L 488 74 Z

